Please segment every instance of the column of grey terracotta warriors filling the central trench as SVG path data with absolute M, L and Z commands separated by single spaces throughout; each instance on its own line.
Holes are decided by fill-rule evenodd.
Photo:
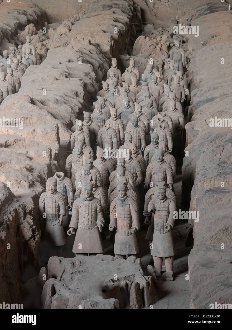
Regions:
M 84 111 L 84 120 L 76 119 L 71 129 L 66 176 L 58 172 L 49 178 L 40 197 L 45 245 L 60 252 L 63 227 L 69 227 L 74 253 L 103 253 L 109 217 L 114 254 L 125 258 L 139 252 L 135 233 L 145 220 L 156 276 L 165 258 L 166 273 L 173 277 L 173 180 L 175 158 L 181 163 L 183 156 L 185 65 L 178 40 L 164 71 L 149 63 L 141 80 L 133 58 L 123 74 L 112 59 L 92 113 Z

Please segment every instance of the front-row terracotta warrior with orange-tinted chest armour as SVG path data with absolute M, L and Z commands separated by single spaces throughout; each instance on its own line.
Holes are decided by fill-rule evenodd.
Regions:
M 136 231 L 139 230 L 138 205 L 127 195 L 126 182 L 117 185 L 118 197 L 110 206 L 109 230 L 117 228 L 114 242 L 114 254 L 120 258 L 138 253 Z

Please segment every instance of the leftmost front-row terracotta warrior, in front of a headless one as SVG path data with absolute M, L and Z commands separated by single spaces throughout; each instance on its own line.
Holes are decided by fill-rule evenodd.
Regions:
M 66 200 L 57 190 L 57 179 L 51 177 L 46 182 L 46 192 L 39 199 L 38 215 L 41 217 L 41 243 L 45 246 L 45 259 L 61 256 L 66 237 L 63 217 L 66 215 Z

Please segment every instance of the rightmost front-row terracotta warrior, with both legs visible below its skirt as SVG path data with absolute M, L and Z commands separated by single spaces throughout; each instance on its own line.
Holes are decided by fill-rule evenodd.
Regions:
M 171 229 L 174 225 L 175 201 L 167 197 L 165 182 L 157 182 L 157 195 L 148 204 L 148 212 L 154 213 L 154 234 L 151 255 L 157 277 L 161 276 L 162 261 L 165 257 L 167 276 L 173 277 L 174 242 Z

